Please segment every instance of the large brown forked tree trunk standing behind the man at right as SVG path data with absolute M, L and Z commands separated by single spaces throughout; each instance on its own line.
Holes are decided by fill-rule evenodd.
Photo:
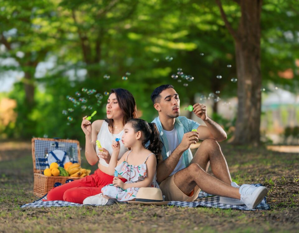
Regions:
M 238 112 L 233 144 L 260 142 L 261 117 L 261 55 L 260 15 L 262 0 L 237 1 L 241 8 L 238 31 L 227 21 L 220 0 L 216 0 L 225 25 L 235 40 L 238 78 Z

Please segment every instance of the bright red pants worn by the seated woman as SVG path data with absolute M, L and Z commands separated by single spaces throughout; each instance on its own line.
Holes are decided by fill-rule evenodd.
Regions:
M 123 182 L 127 181 L 124 178 L 121 178 L 121 180 Z M 85 198 L 101 193 L 102 187 L 112 184 L 112 181 L 113 176 L 97 169 L 90 176 L 54 187 L 49 191 L 47 201 L 58 200 L 82 204 Z

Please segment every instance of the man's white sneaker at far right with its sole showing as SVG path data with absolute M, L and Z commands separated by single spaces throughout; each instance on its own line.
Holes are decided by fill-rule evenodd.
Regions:
M 239 193 L 241 194 L 241 201 L 245 203 L 247 208 L 254 209 L 267 195 L 268 189 L 264 186 L 255 187 L 244 184 L 241 185 Z

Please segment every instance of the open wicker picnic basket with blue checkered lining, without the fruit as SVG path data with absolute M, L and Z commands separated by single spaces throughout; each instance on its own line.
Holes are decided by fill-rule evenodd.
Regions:
M 80 177 L 45 176 L 43 171 L 48 164 L 46 154 L 55 148 L 65 151 L 71 162 L 81 164 L 80 146 L 77 140 L 32 138 L 32 160 L 34 173 L 33 194 L 43 197 L 59 182 L 65 184 L 67 180 L 78 180 Z

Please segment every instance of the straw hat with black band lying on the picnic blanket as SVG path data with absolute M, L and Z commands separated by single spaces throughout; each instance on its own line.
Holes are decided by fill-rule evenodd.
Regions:
M 163 201 L 162 191 L 158 188 L 142 187 L 138 190 L 135 201 L 132 204 L 167 205 L 169 201 Z

